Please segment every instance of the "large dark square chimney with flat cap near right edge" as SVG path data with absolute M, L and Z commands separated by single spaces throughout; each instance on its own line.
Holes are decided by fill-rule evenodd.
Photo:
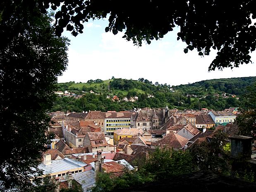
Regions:
M 251 140 L 252 137 L 235 135 L 231 139 L 231 156 L 251 159 Z

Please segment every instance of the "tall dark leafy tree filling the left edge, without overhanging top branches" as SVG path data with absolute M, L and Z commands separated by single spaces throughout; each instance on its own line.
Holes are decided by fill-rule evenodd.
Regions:
M 16 185 L 26 191 L 29 179 L 41 173 L 32 167 L 51 138 L 46 112 L 55 98 L 53 83 L 67 66 L 68 41 L 54 35 L 48 16 L 25 2 L 15 12 L 7 1 L 0 5 L 0 190 Z

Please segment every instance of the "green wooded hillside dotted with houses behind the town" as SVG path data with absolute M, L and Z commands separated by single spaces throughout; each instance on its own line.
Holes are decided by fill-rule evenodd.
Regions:
M 58 91 L 68 90 L 71 94 L 67 97 L 58 97 L 52 111 L 124 111 L 144 107 L 162 108 L 166 105 L 169 109 L 223 110 L 229 107 L 243 107 L 242 95 L 246 93 L 246 87 L 254 82 L 256 77 L 213 79 L 178 86 L 152 83 L 144 78 L 58 83 Z M 97 94 L 89 93 L 90 90 Z M 84 96 L 75 98 L 76 95 Z M 119 97 L 119 102 L 109 99 L 114 95 Z M 139 100 L 122 100 L 124 97 L 129 99 L 134 96 L 138 96 Z

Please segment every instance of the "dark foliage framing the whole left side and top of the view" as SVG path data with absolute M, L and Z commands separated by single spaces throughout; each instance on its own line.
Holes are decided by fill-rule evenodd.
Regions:
M 49 142 L 46 115 L 54 100 L 54 83 L 67 66 L 68 40 L 83 33 L 84 22 L 107 18 L 105 31 L 125 31 L 123 38 L 141 46 L 164 38 L 178 26 L 177 40 L 199 56 L 218 50 L 209 70 L 251 62 L 256 49 L 256 1 L 220 0 L 3 0 L 0 2 L 0 140 L 7 152 L 0 157 L 5 189 L 26 189 Z M 55 13 L 55 29 L 47 11 Z M 4 170 L 4 171 L 2 171 Z

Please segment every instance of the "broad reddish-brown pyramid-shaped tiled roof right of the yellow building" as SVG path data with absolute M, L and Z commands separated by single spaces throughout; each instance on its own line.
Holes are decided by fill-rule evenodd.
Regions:
M 154 142 L 152 145 L 160 147 L 172 147 L 175 149 L 181 149 L 189 140 L 175 133 L 169 133 L 163 139 Z

